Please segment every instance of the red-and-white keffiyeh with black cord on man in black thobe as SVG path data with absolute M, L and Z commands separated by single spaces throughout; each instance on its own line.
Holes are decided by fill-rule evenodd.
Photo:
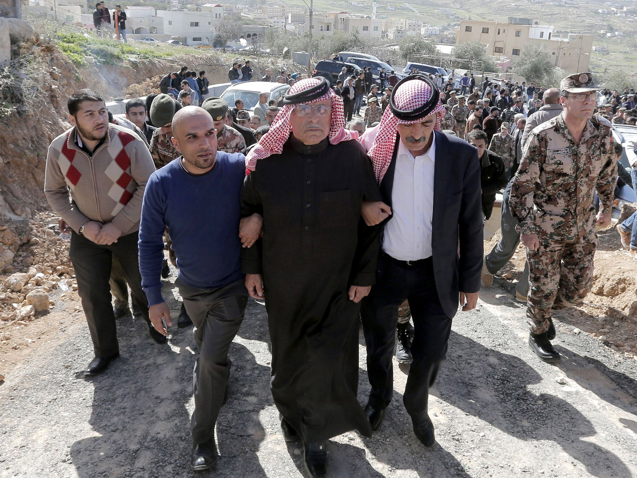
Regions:
M 322 77 L 299 80 L 290 87 L 286 96 L 302 93 L 312 87 L 317 87 L 322 81 L 325 81 Z M 333 89 L 330 88 L 323 96 L 310 99 L 304 103 L 296 104 L 309 105 L 329 98 L 332 99 L 332 123 L 328 135 L 329 142 L 335 145 L 341 141 L 357 139 L 358 135 L 355 135 L 354 131 L 344 128 L 345 113 L 343 113 L 343 98 L 334 93 Z M 250 171 L 254 171 L 259 159 L 264 159 L 273 154 L 280 154 L 283 151 L 283 145 L 285 144 L 285 141 L 288 140 L 292 131 L 292 127 L 290 126 L 290 115 L 292 114 L 292 110 L 294 110 L 294 106 L 296 105 L 283 106 L 283 108 L 281 108 L 281 110 L 276 114 L 276 118 L 270 126 L 268 133 L 264 134 L 257 145 L 250 150 L 248 156 L 245 158 L 246 175 L 249 175 Z

